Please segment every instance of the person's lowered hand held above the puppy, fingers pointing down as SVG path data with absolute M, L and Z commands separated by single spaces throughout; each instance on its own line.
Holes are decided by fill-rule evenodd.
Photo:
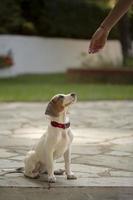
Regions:
M 89 53 L 97 53 L 102 49 L 107 41 L 109 31 L 99 27 L 93 34 L 89 45 Z

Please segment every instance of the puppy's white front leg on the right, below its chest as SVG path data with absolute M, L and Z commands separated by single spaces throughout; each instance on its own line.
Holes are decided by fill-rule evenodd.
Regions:
M 74 173 L 71 171 L 71 147 L 64 153 L 65 170 L 67 179 L 77 179 Z

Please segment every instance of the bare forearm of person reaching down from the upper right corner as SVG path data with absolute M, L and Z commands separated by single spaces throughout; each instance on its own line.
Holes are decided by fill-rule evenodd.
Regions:
M 101 27 L 110 31 L 112 27 L 119 21 L 119 19 L 128 11 L 130 5 L 133 4 L 133 0 L 119 0 L 114 9 L 102 22 Z

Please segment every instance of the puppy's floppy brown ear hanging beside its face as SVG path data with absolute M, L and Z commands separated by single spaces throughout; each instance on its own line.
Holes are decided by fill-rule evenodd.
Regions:
M 53 101 L 50 101 L 46 107 L 45 115 L 49 115 L 51 117 L 58 117 L 59 112 L 56 108 L 56 104 Z

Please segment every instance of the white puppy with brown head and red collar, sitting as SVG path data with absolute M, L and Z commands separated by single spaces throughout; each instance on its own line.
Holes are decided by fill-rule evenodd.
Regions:
M 67 179 L 77 178 L 70 166 L 73 134 L 68 116 L 69 106 L 76 100 L 77 96 L 74 93 L 57 94 L 50 100 L 45 111 L 45 114 L 49 116 L 50 123 L 36 147 L 29 151 L 24 159 L 25 176 L 36 178 L 41 173 L 47 172 L 48 182 L 56 182 L 54 160 L 64 156 Z

